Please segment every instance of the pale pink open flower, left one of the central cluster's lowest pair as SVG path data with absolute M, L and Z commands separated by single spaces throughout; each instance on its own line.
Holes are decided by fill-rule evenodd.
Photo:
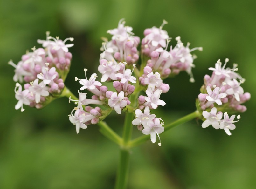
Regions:
M 152 120 L 156 117 L 155 114 L 150 114 L 149 106 L 144 110 L 144 113 L 140 109 L 135 110 L 135 119 L 132 121 L 133 125 L 147 125 L 148 120 Z

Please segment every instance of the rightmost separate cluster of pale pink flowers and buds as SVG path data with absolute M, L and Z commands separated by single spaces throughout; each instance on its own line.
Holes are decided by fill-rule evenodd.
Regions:
M 238 70 L 237 64 L 234 64 L 233 68 L 225 68 L 228 61 L 226 58 L 222 66 L 218 60 L 215 68 L 209 68 L 213 73 L 211 76 L 204 76 L 204 85 L 200 89 L 196 104 L 197 109 L 203 111 L 203 128 L 212 125 L 215 129 L 224 129 L 231 135 L 229 130 L 235 129 L 233 123 L 239 121 L 240 115 L 237 116 L 238 120 L 234 121 L 235 115 L 229 118 L 227 112 L 246 111 L 246 106 L 241 104 L 248 101 L 251 95 L 248 92 L 244 93 L 240 86 L 245 79 L 235 72 Z

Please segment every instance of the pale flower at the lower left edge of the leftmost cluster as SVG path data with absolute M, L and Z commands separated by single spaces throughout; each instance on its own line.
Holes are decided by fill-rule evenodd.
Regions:
M 18 87 L 18 90 L 17 90 Z M 23 104 L 24 105 L 30 105 L 30 102 L 28 100 L 29 97 L 29 90 L 25 89 L 22 91 L 22 87 L 19 83 L 16 83 L 15 86 L 15 98 L 18 100 L 18 103 L 15 105 L 15 109 L 18 110 L 19 108 L 20 111 L 24 111 L 25 109 L 23 108 Z

